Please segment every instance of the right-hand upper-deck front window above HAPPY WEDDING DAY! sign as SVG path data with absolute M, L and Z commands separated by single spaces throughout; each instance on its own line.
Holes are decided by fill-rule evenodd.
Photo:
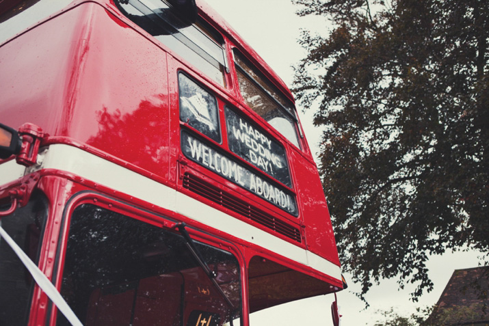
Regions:
M 239 90 L 246 104 L 276 131 L 300 148 L 293 104 L 237 51 L 234 51 Z

